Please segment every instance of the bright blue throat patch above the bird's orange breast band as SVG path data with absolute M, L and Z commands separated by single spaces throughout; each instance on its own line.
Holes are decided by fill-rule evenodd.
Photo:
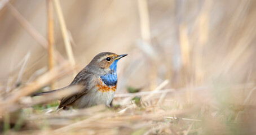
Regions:
M 100 76 L 100 79 L 107 85 L 107 86 L 116 86 L 117 84 L 117 62 L 119 59 L 115 60 L 110 66 L 109 69 L 111 71 L 108 74 Z

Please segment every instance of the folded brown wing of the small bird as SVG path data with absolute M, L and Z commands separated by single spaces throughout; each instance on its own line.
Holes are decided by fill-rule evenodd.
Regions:
M 69 86 L 79 85 L 81 87 L 79 87 L 76 93 L 73 93 L 72 95 L 62 98 L 58 109 L 70 105 L 81 96 L 86 95 L 86 93 L 90 89 L 90 84 L 92 83 L 93 77 L 94 75 L 85 69 L 80 71 L 80 73 L 77 74 L 77 76 L 74 78 L 74 80 Z

